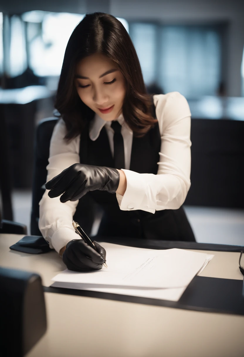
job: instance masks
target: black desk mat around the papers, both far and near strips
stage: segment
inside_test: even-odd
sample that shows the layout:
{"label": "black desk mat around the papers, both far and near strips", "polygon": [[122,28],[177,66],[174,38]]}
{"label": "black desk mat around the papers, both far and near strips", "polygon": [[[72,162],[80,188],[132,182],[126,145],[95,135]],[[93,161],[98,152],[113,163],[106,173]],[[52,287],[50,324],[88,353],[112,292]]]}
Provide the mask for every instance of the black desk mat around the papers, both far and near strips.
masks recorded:
{"label": "black desk mat around the papers, both far and near strips", "polygon": [[[150,249],[195,249],[208,251],[240,252],[244,246],[197,243],[185,241],[147,240],[121,237],[92,237],[96,242],[110,242]],[[238,259],[237,259],[238,267]],[[187,310],[244,315],[243,280],[195,276],[179,301],[158,300],[146,297],[112,294],[89,290],[44,287],[45,292],[126,301],[145,305],[165,306]],[[243,292],[244,294],[244,292]]]}

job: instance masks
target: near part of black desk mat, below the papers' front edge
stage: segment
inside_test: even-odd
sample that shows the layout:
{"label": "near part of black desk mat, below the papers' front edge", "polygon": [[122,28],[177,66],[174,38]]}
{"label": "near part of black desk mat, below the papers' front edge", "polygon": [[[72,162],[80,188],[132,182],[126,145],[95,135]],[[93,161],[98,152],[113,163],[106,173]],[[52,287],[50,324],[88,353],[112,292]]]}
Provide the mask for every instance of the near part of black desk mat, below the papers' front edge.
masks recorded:
{"label": "near part of black desk mat, below the papers' front edge", "polygon": [[244,315],[243,281],[195,276],[179,301],[111,294],[98,291],[44,287],[45,292],[165,306],[203,312]]}

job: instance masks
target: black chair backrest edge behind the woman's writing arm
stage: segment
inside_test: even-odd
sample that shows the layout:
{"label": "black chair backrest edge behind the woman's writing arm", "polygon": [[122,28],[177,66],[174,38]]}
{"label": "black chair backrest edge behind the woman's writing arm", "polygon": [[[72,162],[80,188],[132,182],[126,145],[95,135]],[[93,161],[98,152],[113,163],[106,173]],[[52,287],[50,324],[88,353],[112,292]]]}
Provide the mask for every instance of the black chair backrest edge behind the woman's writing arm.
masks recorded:
{"label": "black chair backrest edge behind the woman's writing arm", "polygon": [[44,194],[52,132],[57,123],[56,117],[43,119],[36,127],[34,143],[34,168],[32,181],[31,235],[41,236],[38,228],[39,202]]}

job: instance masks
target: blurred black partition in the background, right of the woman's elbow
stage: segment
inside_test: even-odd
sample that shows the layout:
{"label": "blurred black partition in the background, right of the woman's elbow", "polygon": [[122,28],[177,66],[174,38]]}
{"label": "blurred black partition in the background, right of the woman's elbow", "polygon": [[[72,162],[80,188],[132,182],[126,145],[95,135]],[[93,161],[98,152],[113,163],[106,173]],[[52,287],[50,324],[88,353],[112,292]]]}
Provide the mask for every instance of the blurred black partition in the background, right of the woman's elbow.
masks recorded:
{"label": "blurred black partition in the background, right of the woman's elbow", "polygon": [[192,119],[185,205],[244,208],[244,121]]}

